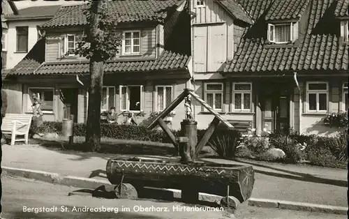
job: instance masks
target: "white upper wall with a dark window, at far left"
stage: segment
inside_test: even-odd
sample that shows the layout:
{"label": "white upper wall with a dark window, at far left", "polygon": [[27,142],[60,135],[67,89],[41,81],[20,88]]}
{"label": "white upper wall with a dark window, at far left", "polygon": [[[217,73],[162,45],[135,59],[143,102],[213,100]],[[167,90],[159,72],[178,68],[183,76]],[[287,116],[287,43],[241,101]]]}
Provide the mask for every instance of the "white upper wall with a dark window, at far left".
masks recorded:
{"label": "white upper wall with a dark window, at far left", "polygon": [[28,52],[38,41],[38,31],[36,26],[47,22],[47,20],[36,21],[8,21],[8,36],[7,36],[7,63],[6,69],[15,67],[27,53],[16,53],[17,33],[16,27],[29,27],[28,31]]}

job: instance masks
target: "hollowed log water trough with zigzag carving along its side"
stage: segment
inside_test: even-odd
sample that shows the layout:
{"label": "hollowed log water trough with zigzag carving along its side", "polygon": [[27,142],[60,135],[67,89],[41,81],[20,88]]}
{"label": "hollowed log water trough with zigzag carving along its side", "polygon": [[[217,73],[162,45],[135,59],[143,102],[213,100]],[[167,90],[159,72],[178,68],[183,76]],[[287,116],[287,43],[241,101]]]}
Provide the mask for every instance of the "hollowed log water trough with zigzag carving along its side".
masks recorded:
{"label": "hollowed log water trough with zigzag carving along its side", "polygon": [[170,158],[130,156],[108,160],[107,179],[114,185],[130,183],[137,190],[144,186],[179,189],[181,198],[188,202],[198,200],[198,192],[233,196],[239,202],[245,202],[251,197],[255,181],[252,166],[203,162],[181,164]]}

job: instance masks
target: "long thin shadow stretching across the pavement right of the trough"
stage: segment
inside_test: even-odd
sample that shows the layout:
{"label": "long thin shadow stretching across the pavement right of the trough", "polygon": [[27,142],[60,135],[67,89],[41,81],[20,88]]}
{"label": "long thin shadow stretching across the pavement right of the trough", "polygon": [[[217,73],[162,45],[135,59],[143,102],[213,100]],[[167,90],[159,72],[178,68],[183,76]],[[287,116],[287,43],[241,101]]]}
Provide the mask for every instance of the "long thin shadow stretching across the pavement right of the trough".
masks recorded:
{"label": "long thin shadow stretching across the pavement right of the trough", "polygon": [[[325,179],[325,178],[321,178],[318,176],[313,176],[312,174],[304,174],[304,173],[300,173],[300,172],[293,172],[290,170],[286,170],[286,169],[280,169],[280,168],[276,168],[276,167],[270,167],[267,165],[262,165],[262,164],[258,164],[258,163],[252,163],[252,162],[248,162],[248,161],[242,161],[242,160],[237,160],[240,163],[246,163],[248,165],[253,165],[253,166],[257,166],[257,167],[264,167],[267,169],[273,169],[279,172],[285,172],[286,174],[281,174],[281,173],[276,173],[276,172],[267,172],[267,171],[262,171],[262,170],[258,170],[255,169],[256,173],[259,174],[265,174],[265,175],[269,175],[269,176],[276,176],[276,177],[282,177],[282,178],[287,178],[287,179],[295,179],[295,180],[299,180],[299,181],[306,181],[306,182],[311,182],[311,183],[321,183],[321,184],[327,184],[327,185],[332,185],[332,186],[341,186],[341,187],[347,187],[348,186],[348,182],[347,181],[343,181],[343,180],[336,180],[336,179]],[[292,176],[290,174],[293,175],[297,175],[297,176]]]}

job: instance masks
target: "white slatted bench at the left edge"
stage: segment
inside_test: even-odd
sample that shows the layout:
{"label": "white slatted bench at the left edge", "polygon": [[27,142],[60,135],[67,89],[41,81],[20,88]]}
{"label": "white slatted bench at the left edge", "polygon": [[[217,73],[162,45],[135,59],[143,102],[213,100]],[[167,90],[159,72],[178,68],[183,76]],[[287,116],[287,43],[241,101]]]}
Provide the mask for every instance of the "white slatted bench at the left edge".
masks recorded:
{"label": "white slatted bench at the left edge", "polygon": [[[5,135],[11,135],[11,145],[24,141],[28,144],[31,114],[6,114],[2,119],[1,131]],[[24,135],[24,139],[16,139],[16,135]]]}

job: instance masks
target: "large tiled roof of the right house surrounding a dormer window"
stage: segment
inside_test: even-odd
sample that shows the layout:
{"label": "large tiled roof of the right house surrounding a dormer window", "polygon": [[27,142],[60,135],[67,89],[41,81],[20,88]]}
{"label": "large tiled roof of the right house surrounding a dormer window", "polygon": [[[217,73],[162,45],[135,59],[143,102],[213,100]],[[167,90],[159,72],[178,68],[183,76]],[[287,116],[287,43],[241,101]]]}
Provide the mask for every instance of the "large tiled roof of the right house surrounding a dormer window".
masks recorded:
{"label": "large tiled roof of the right house surrounding a dormer window", "polygon": [[334,19],[337,1],[310,0],[306,33],[299,37],[298,45],[284,47],[271,47],[267,43],[267,22],[263,20],[263,15],[269,14],[269,8],[274,8],[276,1],[237,1],[246,6],[246,10],[252,13],[251,17],[262,25],[246,29],[234,59],[222,66],[223,73],[348,70],[349,46],[339,43],[339,22]]}

